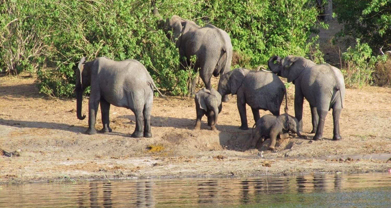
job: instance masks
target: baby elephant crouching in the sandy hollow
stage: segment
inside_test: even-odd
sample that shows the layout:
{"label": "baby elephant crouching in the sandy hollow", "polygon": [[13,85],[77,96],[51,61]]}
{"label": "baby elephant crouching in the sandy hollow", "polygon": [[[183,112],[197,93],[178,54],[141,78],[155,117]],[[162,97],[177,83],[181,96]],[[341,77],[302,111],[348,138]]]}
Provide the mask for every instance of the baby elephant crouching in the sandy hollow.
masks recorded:
{"label": "baby elephant crouching in the sandy hollow", "polygon": [[[288,138],[289,137],[289,131],[293,133],[297,133],[299,137],[303,137],[307,139],[307,136],[301,135],[299,131],[299,125],[298,120],[289,115],[289,114],[282,114],[280,116],[273,116],[273,115],[265,115],[262,116],[256,123],[255,126],[255,138],[253,139],[258,140],[261,139],[263,142],[264,139],[270,138],[271,144],[269,146],[269,149],[275,149],[276,147],[276,139],[277,136],[280,135],[280,138]],[[253,131],[254,131],[253,126]]]}

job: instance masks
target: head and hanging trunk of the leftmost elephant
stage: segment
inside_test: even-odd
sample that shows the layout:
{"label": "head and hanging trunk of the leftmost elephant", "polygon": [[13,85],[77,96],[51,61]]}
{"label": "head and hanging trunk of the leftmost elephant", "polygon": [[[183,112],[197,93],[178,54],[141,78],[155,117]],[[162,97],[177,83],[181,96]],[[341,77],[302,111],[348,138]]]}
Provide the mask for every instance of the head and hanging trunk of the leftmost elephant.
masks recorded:
{"label": "head and hanging trunk of the leftmost elephant", "polygon": [[76,113],[77,118],[83,120],[86,118],[86,115],[81,116],[81,107],[83,103],[83,92],[84,90],[90,86],[90,63],[86,63],[86,58],[82,57],[79,61],[79,65],[76,70]]}

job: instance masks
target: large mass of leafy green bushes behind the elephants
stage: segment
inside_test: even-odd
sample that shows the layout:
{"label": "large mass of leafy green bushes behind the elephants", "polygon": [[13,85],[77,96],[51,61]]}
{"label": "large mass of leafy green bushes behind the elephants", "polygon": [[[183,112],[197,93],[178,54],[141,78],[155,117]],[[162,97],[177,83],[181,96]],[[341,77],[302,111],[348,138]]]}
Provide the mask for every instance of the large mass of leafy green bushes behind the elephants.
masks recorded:
{"label": "large mass of leafy green bushes behind the elephants", "polygon": [[[240,66],[254,68],[271,55],[308,55],[316,38],[317,11],[312,0],[171,0],[156,1],[163,18],[173,14],[203,26],[211,23],[230,34]],[[14,8],[9,11],[9,5]],[[21,56],[19,70],[38,67],[41,92],[56,97],[73,96],[77,62],[106,56],[114,60],[137,59],[148,69],[156,85],[173,95],[187,94],[191,73],[179,70],[179,53],[162,30],[158,17],[145,0],[11,0],[0,6],[0,27],[14,18],[23,21],[22,36],[36,34],[41,50]],[[4,18],[2,20],[1,18]],[[15,55],[15,30],[1,30],[4,50]],[[22,27],[23,26],[23,27]],[[15,28],[16,27],[16,28]],[[7,31],[10,31],[7,34]],[[23,46],[26,51],[34,44]],[[319,53],[313,54],[318,57]],[[5,71],[6,61],[0,60]],[[43,67],[47,64],[47,68]]]}

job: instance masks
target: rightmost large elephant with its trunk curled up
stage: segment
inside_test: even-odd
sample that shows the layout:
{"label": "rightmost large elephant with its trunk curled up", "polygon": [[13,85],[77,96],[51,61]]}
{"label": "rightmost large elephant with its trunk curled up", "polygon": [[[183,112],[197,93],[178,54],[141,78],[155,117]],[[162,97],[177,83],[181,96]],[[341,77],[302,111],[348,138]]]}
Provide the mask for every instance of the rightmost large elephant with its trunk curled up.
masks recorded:
{"label": "rightmost large elephant with its trunk curled up", "polygon": [[339,69],[330,64],[315,64],[298,56],[287,56],[284,59],[273,56],[269,59],[268,66],[278,76],[287,78],[288,82],[295,85],[294,110],[301,132],[305,98],[311,107],[311,133],[315,133],[313,139],[322,139],[326,115],[331,108],[334,120],[333,140],[342,139],[339,133],[339,116],[343,108],[345,83]]}

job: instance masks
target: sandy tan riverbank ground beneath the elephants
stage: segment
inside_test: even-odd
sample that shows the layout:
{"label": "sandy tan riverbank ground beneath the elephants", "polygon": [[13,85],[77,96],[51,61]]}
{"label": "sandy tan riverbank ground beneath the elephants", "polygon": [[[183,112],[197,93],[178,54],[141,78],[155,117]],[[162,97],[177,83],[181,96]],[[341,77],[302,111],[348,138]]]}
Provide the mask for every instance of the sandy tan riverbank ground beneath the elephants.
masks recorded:
{"label": "sandy tan riverbank ground beneath the elephants", "polygon": [[[213,79],[215,87],[217,79]],[[294,114],[294,86],[288,88]],[[88,99],[83,114],[88,115]],[[239,130],[236,96],[223,103],[217,131],[193,130],[193,99],[154,98],[152,138],[131,138],[131,110],[112,106],[112,133],[85,135],[88,119],[76,117],[75,100],[38,93],[34,78],[0,77],[0,149],[21,149],[20,156],[0,156],[0,183],[105,178],[228,177],[312,172],[385,172],[391,168],[391,89],[347,89],[341,115],[343,140],[332,140],[332,114],[324,139],[310,140],[310,108],[304,103],[304,132],[309,139],[278,141],[278,151],[251,145],[251,130]],[[283,108],[281,108],[281,112]],[[270,114],[260,111],[261,116]],[[247,107],[249,126],[254,124]],[[102,128],[100,112],[97,130]],[[153,147],[154,149],[150,149]],[[159,149],[160,148],[160,149]],[[159,151],[160,150],[160,151]],[[264,150],[264,158],[260,151]]]}

